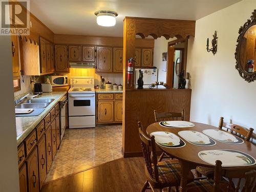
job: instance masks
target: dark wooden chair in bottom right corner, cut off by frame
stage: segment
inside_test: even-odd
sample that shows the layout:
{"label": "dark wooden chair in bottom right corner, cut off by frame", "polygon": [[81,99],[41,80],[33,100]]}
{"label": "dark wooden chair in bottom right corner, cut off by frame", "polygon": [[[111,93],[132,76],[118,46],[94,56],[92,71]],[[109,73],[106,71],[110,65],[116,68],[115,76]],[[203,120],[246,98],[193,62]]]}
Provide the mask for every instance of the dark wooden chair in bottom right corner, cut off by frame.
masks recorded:
{"label": "dark wooden chair in bottom right corner, cut off by frame", "polygon": [[[200,180],[188,183],[187,192],[231,192],[256,191],[256,165],[240,167],[222,167],[220,160],[216,161],[214,180]],[[228,178],[228,180],[223,179]],[[234,185],[233,179],[238,179]]]}

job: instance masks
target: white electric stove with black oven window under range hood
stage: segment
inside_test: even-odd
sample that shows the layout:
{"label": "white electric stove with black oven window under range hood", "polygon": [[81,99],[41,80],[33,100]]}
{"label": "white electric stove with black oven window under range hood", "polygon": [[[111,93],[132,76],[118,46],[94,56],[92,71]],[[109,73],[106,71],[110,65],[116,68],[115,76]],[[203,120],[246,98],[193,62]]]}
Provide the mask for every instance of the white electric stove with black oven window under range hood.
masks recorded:
{"label": "white electric stove with black oven window under range hood", "polygon": [[69,128],[95,127],[94,77],[71,77]]}

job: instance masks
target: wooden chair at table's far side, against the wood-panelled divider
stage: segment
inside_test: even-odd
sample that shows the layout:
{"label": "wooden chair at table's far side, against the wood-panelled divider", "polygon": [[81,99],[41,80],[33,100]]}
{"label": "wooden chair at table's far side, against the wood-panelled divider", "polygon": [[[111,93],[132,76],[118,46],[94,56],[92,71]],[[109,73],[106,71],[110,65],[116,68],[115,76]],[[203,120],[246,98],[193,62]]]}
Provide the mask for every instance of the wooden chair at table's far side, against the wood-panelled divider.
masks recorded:
{"label": "wooden chair at table's far side, against the wood-panelled divider", "polygon": [[[157,113],[156,110],[154,110],[154,115],[155,115],[155,121],[160,122],[160,121],[184,121],[184,110],[181,111],[181,113],[176,113],[176,112],[162,112],[162,113]],[[162,161],[164,157],[167,158],[173,158],[170,157],[169,155],[165,154],[164,152],[159,156],[158,161]]]}

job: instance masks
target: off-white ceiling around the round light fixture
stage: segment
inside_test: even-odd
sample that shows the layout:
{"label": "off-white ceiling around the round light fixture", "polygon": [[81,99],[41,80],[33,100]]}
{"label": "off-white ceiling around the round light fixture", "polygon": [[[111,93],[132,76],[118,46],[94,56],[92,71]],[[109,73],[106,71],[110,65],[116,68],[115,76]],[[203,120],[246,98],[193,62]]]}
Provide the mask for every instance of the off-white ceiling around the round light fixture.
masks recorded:
{"label": "off-white ceiling around the round light fixture", "polygon": [[[30,10],[54,33],[123,36],[125,16],[197,20],[239,1],[241,0],[30,0]],[[116,26],[98,26],[94,15],[98,10],[118,12]]]}

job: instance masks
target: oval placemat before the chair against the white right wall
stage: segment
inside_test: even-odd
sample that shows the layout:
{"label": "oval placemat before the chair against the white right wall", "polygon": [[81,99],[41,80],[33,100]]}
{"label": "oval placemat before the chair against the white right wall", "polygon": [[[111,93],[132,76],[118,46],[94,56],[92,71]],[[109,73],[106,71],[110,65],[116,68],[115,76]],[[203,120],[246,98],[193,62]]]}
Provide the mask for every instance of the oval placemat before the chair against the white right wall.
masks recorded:
{"label": "oval placemat before the chair against the white right wall", "polygon": [[226,131],[208,129],[208,130],[203,130],[203,133],[205,135],[208,135],[212,139],[216,139],[222,143],[241,144],[244,142],[243,139],[241,139],[237,136],[234,136],[233,134],[230,134]]}

